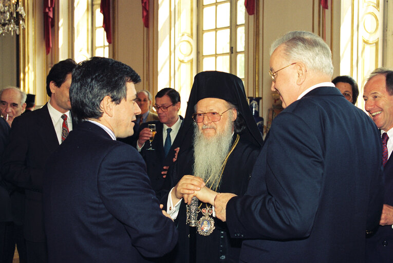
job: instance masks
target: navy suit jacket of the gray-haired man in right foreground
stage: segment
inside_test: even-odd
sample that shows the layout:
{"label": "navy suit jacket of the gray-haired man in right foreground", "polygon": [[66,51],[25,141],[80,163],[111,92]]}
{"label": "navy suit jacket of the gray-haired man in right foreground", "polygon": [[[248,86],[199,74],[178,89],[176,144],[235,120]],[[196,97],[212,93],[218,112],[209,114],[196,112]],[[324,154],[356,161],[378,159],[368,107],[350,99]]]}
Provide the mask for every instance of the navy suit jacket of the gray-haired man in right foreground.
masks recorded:
{"label": "navy suit jacket of the gray-haired man in right foreground", "polygon": [[383,202],[376,125],[333,87],[274,120],[245,196],[227,205],[244,262],[364,262]]}

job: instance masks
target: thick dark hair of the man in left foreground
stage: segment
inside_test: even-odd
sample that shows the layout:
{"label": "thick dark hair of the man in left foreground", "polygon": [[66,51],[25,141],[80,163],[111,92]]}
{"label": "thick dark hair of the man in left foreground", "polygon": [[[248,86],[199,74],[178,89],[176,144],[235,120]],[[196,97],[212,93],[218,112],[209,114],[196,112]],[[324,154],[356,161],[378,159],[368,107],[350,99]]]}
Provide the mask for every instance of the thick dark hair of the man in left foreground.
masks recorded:
{"label": "thick dark hair of the man in left foreground", "polygon": [[77,120],[99,119],[105,96],[119,104],[127,97],[127,82],[139,83],[138,73],[128,65],[107,58],[93,57],[77,65],[72,71],[69,90],[71,110]]}

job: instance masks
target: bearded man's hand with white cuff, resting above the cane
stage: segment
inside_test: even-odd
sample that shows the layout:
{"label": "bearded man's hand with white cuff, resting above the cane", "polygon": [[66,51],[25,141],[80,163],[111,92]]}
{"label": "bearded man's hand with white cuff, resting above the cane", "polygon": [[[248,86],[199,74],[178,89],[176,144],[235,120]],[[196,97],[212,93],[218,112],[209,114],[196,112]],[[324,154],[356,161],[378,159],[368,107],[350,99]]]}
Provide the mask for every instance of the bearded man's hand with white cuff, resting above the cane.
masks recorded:
{"label": "bearded man's hand with white cuff, resting above the cane", "polygon": [[204,186],[202,178],[193,175],[184,175],[180,181],[173,187],[171,196],[173,203],[177,203],[181,198],[184,202],[191,202],[191,198],[196,195],[195,191],[199,191]]}

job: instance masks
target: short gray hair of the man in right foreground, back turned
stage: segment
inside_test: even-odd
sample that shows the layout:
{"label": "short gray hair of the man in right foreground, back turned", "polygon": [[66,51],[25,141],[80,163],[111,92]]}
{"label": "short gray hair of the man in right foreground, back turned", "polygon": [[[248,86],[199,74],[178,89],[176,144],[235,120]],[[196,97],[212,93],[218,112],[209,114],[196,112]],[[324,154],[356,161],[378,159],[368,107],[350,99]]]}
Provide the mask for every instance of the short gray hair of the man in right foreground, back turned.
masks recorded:
{"label": "short gray hair of the man in right foreground, back turned", "polygon": [[331,51],[320,36],[307,31],[288,32],[273,42],[270,55],[282,44],[288,61],[303,62],[310,70],[333,76]]}

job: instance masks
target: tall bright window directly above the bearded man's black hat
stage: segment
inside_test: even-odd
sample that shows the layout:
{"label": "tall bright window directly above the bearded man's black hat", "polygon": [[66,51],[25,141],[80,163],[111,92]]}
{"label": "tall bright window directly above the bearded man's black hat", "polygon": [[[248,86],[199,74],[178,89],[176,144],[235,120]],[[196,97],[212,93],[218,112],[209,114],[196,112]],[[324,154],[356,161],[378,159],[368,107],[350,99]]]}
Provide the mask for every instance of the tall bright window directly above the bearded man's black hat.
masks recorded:
{"label": "tall bright window directly above the bearded man's black hat", "polygon": [[198,1],[198,71],[218,70],[245,76],[244,0]]}

